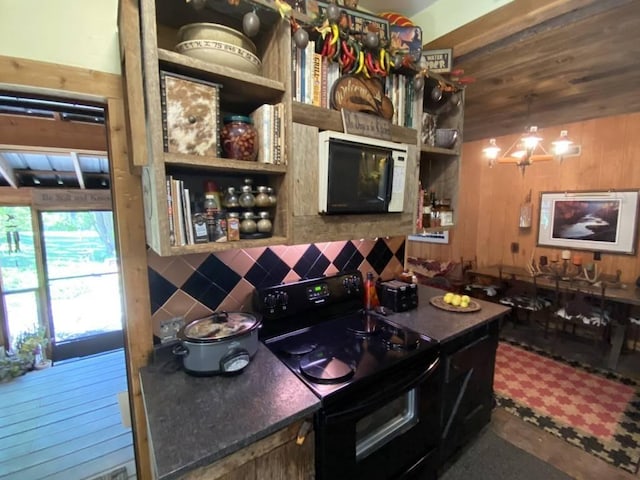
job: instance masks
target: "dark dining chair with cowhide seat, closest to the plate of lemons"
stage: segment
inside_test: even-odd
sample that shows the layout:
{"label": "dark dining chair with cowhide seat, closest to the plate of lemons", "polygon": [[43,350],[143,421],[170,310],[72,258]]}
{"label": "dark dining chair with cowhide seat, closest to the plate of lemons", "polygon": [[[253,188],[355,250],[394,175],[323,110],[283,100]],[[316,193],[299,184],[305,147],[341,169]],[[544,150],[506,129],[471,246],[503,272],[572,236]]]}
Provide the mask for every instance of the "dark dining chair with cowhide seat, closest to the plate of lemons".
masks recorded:
{"label": "dark dining chair with cowhide seat, closest to the plate of lemons", "polygon": [[553,299],[545,294],[545,291],[538,286],[538,275],[531,275],[526,278],[512,276],[510,279],[503,279],[500,273],[500,281],[506,285],[504,293],[500,296],[499,302],[511,307],[511,317],[514,326],[519,322],[518,312],[524,312],[525,322],[531,323],[531,316],[543,316],[544,336],[547,337],[549,331],[550,307],[554,304]]}

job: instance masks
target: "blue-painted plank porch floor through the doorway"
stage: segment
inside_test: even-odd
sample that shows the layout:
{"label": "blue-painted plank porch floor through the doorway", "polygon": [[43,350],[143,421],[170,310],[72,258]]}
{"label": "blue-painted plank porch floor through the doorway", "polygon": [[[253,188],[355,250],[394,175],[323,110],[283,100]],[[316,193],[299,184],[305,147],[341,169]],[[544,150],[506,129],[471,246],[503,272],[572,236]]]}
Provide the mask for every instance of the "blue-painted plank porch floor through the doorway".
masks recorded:
{"label": "blue-painted plank porch floor through the doorway", "polygon": [[0,384],[0,479],[83,480],[119,466],[135,478],[126,389],[122,349]]}

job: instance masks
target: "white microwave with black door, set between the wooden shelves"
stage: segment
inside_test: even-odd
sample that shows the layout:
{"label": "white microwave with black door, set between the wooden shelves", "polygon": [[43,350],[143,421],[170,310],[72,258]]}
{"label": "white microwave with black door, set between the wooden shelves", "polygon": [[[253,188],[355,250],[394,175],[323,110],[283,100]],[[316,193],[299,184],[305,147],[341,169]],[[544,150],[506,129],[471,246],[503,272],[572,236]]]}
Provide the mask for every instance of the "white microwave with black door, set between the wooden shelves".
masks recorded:
{"label": "white microwave with black door, set between the wooden shelves", "polygon": [[404,143],[320,132],[318,211],[328,215],[402,212],[408,151]]}

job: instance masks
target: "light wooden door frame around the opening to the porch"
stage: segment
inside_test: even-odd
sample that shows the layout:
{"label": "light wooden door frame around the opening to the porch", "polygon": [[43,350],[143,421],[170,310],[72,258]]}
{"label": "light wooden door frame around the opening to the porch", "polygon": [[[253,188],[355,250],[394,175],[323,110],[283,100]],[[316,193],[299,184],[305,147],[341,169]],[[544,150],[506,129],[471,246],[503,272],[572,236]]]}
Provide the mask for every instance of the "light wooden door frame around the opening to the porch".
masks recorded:
{"label": "light wooden door frame around the opening to the porch", "polygon": [[124,292],[127,380],[137,476],[151,478],[138,371],[153,349],[140,179],[129,171],[122,79],[94,70],[0,56],[0,88],[106,103],[115,226]]}

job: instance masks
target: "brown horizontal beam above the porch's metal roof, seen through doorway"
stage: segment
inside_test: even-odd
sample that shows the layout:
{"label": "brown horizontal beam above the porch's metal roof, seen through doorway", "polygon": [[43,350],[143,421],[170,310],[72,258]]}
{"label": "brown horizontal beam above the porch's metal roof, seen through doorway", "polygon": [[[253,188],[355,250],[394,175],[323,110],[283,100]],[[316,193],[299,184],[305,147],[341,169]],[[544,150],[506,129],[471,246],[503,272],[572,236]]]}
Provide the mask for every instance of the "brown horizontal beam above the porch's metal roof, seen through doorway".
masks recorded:
{"label": "brown horizontal beam above the porch's metal roof, seen through doorway", "polygon": [[0,144],[106,152],[107,135],[100,124],[0,114]]}

